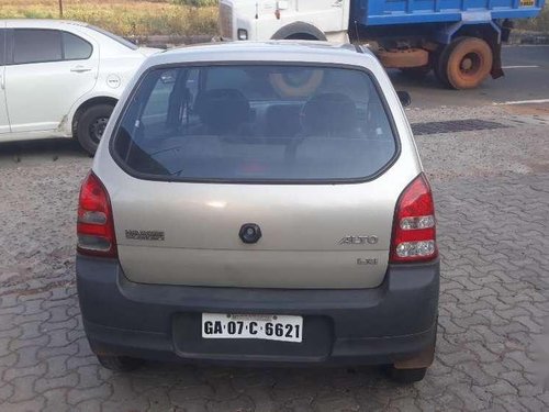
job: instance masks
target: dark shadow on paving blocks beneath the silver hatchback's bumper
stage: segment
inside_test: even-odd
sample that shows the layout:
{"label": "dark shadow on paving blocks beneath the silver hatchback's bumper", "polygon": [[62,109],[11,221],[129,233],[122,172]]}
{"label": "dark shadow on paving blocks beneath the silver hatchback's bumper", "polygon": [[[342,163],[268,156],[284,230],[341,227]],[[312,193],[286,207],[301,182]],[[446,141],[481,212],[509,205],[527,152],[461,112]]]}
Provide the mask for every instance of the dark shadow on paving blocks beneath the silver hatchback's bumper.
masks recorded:
{"label": "dark shadow on paving blocks beneath the silver hatchback's bumper", "polygon": [[[172,388],[173,394],[193,387],[202,387],[201,394],[211,398],[225,391],[227,397],[249,397],[257,392],[269,393],[273,407],[282,410],[292,400],[306,398],[344,401],[354,397],[368,399],[365,404],[373,407],[371,396],[391,397],[394,392],[410,390],[408,386],[389,380],[380,367],[223,367],[206,364],[161,364],[147,361],[145,367],[123,376],[114,375],[111,383],[123,378],[132,387],[143,382],[156,382]],[[187,389],[189,390],[189,389]],[[221,400],[221,399],[220,399]]]}

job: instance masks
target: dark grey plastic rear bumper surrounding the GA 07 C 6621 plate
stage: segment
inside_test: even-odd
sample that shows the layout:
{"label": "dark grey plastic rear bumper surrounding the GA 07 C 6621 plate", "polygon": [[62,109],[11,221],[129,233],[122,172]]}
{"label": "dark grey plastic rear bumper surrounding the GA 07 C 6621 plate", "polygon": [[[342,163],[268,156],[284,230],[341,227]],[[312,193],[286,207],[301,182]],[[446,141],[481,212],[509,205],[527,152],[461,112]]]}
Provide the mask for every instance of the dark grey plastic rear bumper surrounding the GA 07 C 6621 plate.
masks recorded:
{"label": "dark grey plastic rear bumper surrounding the GA 07 C 6621 plate", "polygon": [[[374,365],[433,347],[439,263],[395,265],[360,290],[276,290],[143,285],[116,260],[77,257],[83,324],[97,354],[158,360]],[[304,316],[302,344],[203,339],[201,313]]]}

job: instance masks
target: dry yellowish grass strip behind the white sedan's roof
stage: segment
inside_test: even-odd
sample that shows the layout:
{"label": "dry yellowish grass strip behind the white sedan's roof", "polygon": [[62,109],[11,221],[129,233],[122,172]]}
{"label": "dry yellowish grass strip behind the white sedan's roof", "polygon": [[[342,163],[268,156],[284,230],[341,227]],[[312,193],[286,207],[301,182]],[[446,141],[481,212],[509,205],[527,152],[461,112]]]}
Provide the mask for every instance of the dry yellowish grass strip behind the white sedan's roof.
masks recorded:
{"label": "dry yellowish grass strip behind the white sedan's roof", "polygon": [[[0,19],[59,18],[57,0],[0,1]],[[209,1],[64,0],[64,19],[88,22],[124,36],[214,35],[217,33],[217,8],[184,4]]]}

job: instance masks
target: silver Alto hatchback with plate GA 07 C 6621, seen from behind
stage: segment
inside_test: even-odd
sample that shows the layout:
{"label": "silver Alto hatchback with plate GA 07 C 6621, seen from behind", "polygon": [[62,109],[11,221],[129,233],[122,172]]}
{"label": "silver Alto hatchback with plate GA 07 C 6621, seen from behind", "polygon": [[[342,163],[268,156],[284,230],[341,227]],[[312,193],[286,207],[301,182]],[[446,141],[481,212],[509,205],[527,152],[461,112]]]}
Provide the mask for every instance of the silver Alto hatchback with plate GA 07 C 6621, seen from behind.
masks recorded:
{"label": "silver Alto hatchback with plate GA 07 C 6621, seen from behind", "polygon": [[434,358],[435,212],[367,49],[221,44],[149,57],[82,183],[77,280],[101,364]]}

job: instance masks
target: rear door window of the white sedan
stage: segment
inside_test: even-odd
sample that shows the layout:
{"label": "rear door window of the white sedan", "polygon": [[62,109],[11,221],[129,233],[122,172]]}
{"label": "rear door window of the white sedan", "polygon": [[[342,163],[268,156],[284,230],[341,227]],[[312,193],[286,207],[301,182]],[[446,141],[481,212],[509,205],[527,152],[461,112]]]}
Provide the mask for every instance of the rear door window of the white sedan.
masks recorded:
{"label": "rear door window of the white sedan", "polygon": [[13,46],[14,64],[63,59],[61,33],[56,30],[15,29]]}

